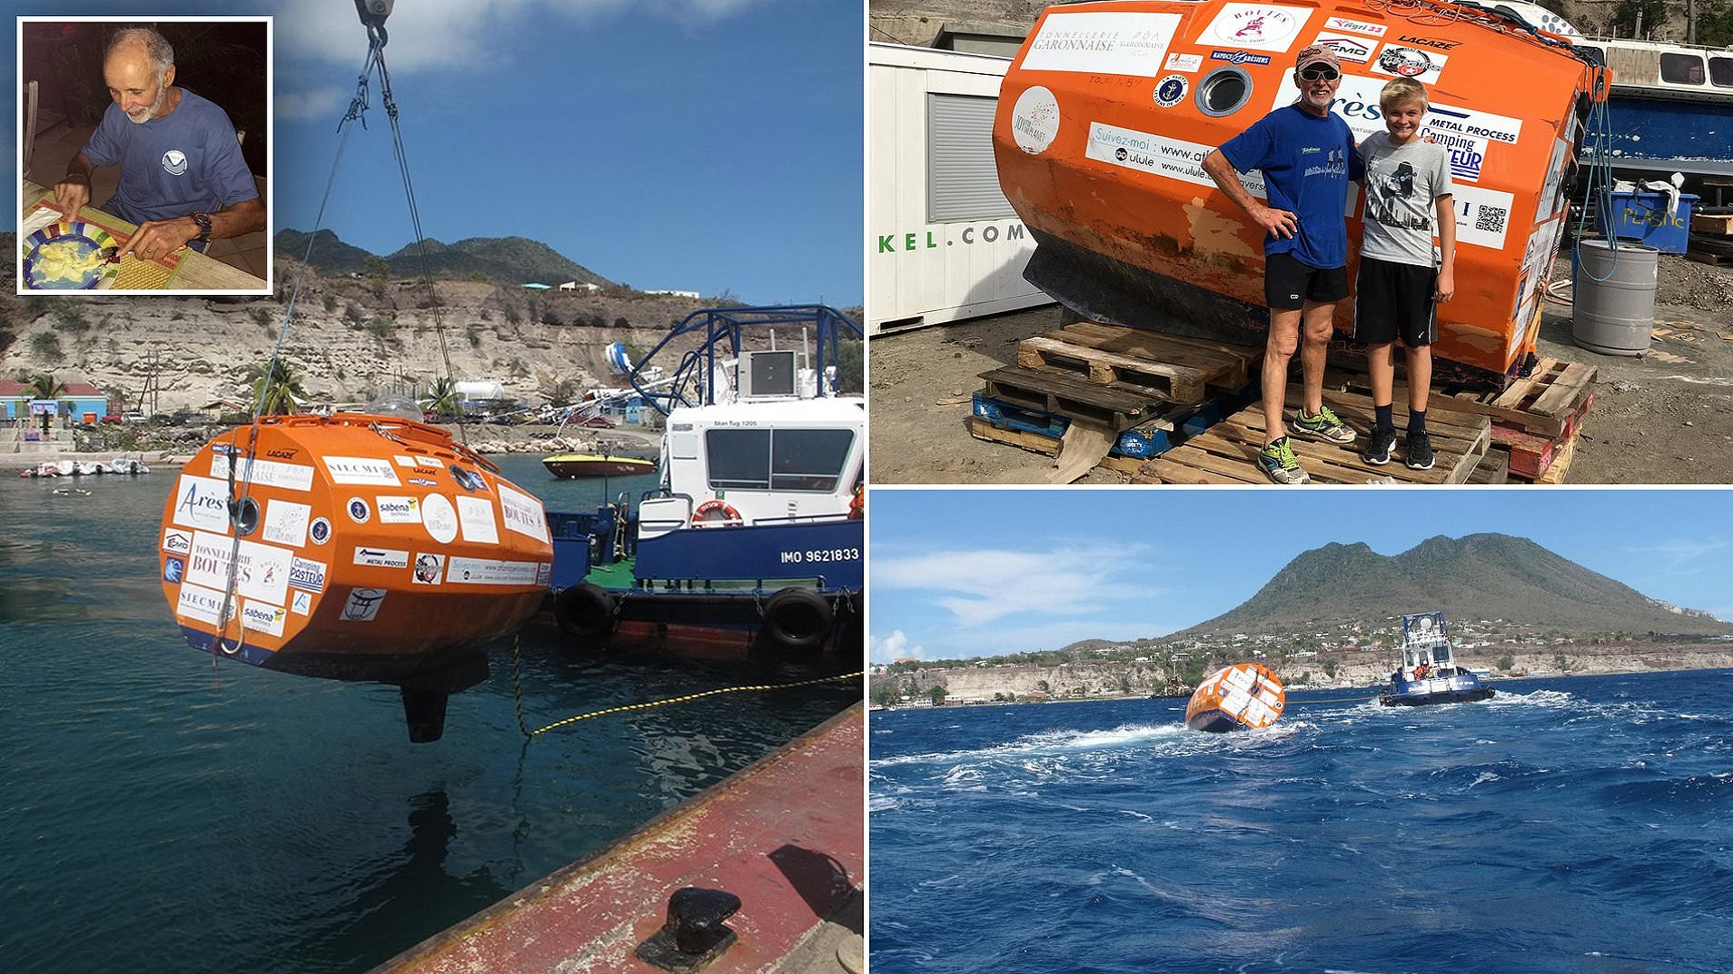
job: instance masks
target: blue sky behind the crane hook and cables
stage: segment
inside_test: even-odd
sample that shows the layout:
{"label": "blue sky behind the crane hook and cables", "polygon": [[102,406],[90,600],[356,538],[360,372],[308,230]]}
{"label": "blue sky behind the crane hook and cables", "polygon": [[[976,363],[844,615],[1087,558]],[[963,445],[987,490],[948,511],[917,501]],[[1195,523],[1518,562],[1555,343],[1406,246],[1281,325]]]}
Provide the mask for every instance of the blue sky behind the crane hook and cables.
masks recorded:
{"label": "blue sky behind the crane hook and cables", "polygon": [[[7,7],[274,16],[274,225],[312,229],[367,52],[352,0]],[[539,239],[641,289],[861,302],[858,3],[399,0],[386,29],[428,236]],[[324,225],[374,253],[412,239],[378,83]]]}

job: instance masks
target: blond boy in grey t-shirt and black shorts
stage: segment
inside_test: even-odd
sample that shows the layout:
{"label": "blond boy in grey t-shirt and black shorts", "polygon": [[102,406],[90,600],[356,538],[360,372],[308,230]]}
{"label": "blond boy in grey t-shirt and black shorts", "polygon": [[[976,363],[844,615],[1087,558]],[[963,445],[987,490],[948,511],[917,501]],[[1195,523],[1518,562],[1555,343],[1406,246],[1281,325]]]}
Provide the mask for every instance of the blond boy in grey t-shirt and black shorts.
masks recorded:
{"label": "blond boy in grey t-shirt and black shorts", "polygon": [[[1353,336],[1366,341],[1376,421],[1360,459],[1390,463],[1397,442],[1393,345],[1407,360],[1409,421],[1402,459],[1412,470],[1433,464],[1426,433],[1431,343],[1438,338],[1437,305],[1456,293],[1456,213],[1451,161],[1442,146],[1419,137],[1426,88],[1412,78],[1385,85],[1378,106],[1385,132],[1360,146],[1366,163],[1366,234],[1353,289]],[[1438,246],[1433,250],[1433,234]]]}

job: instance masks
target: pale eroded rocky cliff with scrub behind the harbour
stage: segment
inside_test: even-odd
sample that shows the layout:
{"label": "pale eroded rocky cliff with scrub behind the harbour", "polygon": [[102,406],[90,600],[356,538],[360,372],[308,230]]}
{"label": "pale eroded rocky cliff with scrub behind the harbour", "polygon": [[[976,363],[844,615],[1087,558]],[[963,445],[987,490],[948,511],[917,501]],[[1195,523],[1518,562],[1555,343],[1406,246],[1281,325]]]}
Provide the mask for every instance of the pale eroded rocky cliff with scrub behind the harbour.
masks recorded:
{"label": "pale eroded rocky cliff with scrub behind the harbour", "polygon": [[[3,237],[16,246],[10,234]],[[279,250],[277,298],[17,298],[7,279],[0,284],[0,376],[52,373],[61,381],[90,381],[146,412],[243,395],[248,369],[269,360],[277,345],[298,258]],[[5,274],[14,274],[12,265]],[[380,393],[425,388],[447,373],[447,355],[458,380],[499,381],[532,406],[568,402],[584,388],[622,385],[607,369],[608,343],[624,341],[636,357],[671,324],[709,305],[619,286],[525,291],[473,279],[438,281],[437,293],[435,308],[414,279],[308,274],[282,355],[315,402],[366,404]]]}

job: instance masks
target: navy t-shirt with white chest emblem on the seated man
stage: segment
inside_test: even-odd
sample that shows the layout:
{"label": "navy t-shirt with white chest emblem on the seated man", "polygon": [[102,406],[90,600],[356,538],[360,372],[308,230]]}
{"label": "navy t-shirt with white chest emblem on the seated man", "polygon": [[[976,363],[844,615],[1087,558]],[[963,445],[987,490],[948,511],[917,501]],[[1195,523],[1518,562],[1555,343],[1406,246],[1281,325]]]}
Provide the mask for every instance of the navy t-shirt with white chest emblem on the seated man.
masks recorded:
{"label": "navy t-shirt with white chest emblem on the seated man", "polygon": [[144,125],[109,104],[85,158],[99,166],[120,163],[120,189],[104,208],[133,224],[210,213],[258,196],[229,113],[185,88],[175,111]]}

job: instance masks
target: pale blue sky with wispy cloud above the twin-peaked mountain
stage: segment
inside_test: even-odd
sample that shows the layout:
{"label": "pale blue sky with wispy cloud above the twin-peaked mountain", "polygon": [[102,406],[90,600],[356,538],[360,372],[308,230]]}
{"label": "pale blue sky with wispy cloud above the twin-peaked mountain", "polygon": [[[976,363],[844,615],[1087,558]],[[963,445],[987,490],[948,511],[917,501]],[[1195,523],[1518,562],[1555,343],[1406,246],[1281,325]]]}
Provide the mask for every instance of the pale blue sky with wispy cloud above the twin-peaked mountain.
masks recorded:
{"label": "pale blue sky with wispy cloud above the twin-peaked mountain", "polygon": [[1165,636],[1301,551],[1529,537],[1636,591],[1733,619],[1726,490],[905,490],[868,501],[872,660]]}

